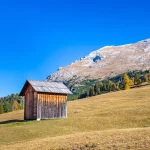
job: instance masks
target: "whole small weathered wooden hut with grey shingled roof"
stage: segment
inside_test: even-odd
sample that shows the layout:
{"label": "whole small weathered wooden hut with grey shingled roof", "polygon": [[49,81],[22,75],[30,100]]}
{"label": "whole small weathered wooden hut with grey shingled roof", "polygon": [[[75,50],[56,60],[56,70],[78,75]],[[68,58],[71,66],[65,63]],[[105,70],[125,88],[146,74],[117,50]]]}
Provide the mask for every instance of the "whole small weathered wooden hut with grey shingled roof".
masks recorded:
{"label": "whole small weathered wooden hut with grey shingled roof", "polygon": [[61,82],[27,80],[20,92],[24,119],[67,118],[67,94],[72,92]]}

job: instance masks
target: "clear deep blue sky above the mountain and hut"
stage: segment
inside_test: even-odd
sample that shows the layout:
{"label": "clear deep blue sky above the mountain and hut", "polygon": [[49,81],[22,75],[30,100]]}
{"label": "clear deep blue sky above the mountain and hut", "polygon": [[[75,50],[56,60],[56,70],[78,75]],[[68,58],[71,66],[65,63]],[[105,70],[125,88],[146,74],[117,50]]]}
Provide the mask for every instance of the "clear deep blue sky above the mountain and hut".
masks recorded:
{"label": "clear deep blue sky above the mountain and hut", "polygon": [[106,45],[150,37],[149,0],[0,1],[0,97]]}

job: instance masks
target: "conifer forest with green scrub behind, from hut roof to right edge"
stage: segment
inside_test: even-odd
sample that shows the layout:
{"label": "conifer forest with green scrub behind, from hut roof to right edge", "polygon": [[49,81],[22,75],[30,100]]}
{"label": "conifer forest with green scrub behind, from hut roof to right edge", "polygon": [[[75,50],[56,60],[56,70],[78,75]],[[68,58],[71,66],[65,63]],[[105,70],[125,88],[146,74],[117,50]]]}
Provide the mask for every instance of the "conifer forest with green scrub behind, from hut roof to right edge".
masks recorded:
{"label": "conifer forest with green scrub behind, from hut roof to right edge", "polygon": [[73,95],[68,100],[82,99],[108,92],[129,90],[150,83],[150,71],[130,71],[107,80],[86,80],[76,86],[74,81],[69,81],[67,86],[72,90]]}

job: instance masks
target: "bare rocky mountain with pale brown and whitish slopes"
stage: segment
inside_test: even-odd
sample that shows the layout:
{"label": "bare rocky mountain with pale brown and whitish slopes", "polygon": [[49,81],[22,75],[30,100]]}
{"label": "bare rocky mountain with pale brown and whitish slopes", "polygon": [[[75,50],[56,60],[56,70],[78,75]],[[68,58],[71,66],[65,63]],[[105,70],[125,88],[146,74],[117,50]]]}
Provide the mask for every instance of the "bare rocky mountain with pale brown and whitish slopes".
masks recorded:
{"label": "bare rocky mountain with pale brown and whitish slopes", "polygon": [[60,67],[48,80],[106,79],[133,70],[150,68],[150,39],[134,44],[105,46],[69,66]]}

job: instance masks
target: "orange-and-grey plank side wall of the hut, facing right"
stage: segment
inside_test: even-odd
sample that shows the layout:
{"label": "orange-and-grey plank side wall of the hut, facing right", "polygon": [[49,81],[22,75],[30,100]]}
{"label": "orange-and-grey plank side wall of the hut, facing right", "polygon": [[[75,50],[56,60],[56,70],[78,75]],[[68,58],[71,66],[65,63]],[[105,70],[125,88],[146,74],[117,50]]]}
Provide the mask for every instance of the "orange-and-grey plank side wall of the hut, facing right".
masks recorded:
{"label": "orange-and-grey plank side wall of the hut, facing right", "polygon": [[66,118],[67,95],[38,93],[37,119]]}

